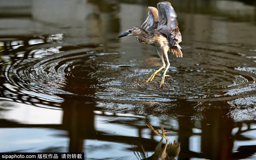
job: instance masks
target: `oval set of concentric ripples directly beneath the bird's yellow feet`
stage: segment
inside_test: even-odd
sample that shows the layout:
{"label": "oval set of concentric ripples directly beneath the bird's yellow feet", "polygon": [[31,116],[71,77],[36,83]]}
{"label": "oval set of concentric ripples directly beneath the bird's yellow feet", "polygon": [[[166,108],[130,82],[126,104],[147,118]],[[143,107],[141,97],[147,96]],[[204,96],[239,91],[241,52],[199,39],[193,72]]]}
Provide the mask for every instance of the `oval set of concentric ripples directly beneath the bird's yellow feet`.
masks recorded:
{"label": "oval set of concentric ripples directly beneath the bird's yellow feet", "polygon": [[207,68],[181,68],[170,72],[173,75],[165,79],[163,88],[159,88],[162,76],[155,77],[148,83],[145,83],[146,75],[138,75],[126,80],[131,81],[138,91],[157,93],[170,99],[220,98],[240,94],[248,87],[251,88],[250,91],[255,90],[253,73]]}

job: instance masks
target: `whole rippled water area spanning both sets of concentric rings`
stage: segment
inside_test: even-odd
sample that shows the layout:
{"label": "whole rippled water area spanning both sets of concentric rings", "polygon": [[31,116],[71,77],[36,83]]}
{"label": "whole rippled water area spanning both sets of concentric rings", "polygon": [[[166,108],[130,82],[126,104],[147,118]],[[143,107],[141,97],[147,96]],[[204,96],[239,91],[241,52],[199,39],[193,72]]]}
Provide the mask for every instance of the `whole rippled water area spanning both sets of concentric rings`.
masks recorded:
{"label": "whole rippled water area spanning both sets of concentric rings", "polygon": [[23,92],[92,96],[111,103],[229,101],[256,93],[254,57],[246,49],[238,52],[229,46],[229,51],[223,51],[216,49],[218,44],[211,44],[184,50],[183,59],[170,58],[167,73],[171,77],[166,77],[160,88],[164,70],[146,83],[161,66],[154,52],[146,59],[124,60],[120,52],[54,45],[31,51],[29,58],[8,66],[8,83]]}

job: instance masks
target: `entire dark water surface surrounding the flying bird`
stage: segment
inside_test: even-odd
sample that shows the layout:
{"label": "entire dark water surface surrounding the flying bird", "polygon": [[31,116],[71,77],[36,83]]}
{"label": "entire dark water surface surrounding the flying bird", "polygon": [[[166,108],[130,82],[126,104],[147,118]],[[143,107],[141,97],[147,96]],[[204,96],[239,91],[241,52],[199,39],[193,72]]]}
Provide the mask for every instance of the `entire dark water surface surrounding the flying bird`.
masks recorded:
{"label": "entire dark water surface surrounding the flying bird", "polygon": [[[161,139],[177,159],[256,159],[256,7],[171,1],[183,58],[163,88],[154,47],[133,37],[158,1],[0,0],[0,152],[137,159]],[[164,141],[165,142],[165,141]]]}

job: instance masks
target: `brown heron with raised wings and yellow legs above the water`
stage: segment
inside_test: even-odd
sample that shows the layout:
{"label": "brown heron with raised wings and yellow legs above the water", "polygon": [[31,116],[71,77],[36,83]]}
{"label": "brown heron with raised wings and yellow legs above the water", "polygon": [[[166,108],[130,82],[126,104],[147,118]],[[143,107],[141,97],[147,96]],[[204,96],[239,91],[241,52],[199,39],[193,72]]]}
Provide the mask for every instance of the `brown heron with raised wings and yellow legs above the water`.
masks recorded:
{"label": "brown heron with raised wings and yellow legs above the water", "polygon": [[160,87],[164,84],[164,78],[169,77],[166,75],[170,62],[167,52],[170,51],[176,57],[182,57],[181,47],[181,33],[179,32],[178,22],[176,20],[176,13],[170,2],[160,2],[157,8],[148,7],[148,18],[141,27],[131,27],[125,33],[119,35],[117,38],[124,36],[134,36],[138,42],[150,44],[156,47],[157,54],[159,55],[163,66],[154,72],[151,77],[146,81],[152,81],[155,75],[165,68],[164,57],[167,61],[167,67],[164,71]]}

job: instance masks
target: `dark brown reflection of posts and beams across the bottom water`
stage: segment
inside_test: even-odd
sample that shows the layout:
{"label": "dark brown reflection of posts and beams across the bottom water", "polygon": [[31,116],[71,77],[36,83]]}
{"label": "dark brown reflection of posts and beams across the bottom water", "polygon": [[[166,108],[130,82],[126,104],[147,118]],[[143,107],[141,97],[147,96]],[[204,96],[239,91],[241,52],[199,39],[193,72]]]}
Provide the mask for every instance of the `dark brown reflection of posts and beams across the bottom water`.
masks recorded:
{"label": "dark brown reflection of posts and beams across the bottom water", "polygon": [[[86,101],[88,103],[88,100]],[[146,139],[140,136],[140,132],[144,129],[147,129],[146,126],[135,125],[134,122],[130,121],[131,116],[119,116],[116,114],[108,115],[98,114],[95,111],[100,111],[100,108],[94,107],[94,103],[91,101],[89,104],[81,105],[81,100],[76,100],[75,98],[66,98],[65,102],[62,103],[63,109],[63,119],[62,124],[18,124],[10,120],[1,120],[0,127],[41,127],[41,128],[54,128],[59,130],[68,131],[69,137],[69,151],[70,152],[82,152],[86,144],[84,140],[86,139],[97,139],[108,142],[118,142],[132,145],[135,141],[140,142],[144,147],[145,151],[153,152],[155,146],[158,142],[154,139]],[[97,130],[95,126],[96,117],[112,117],[118,118],[119,121],[116,124],[116,121],[110,122],[116,127],[125,125],[127,128],[131,128],[137,131],[139,137],[129,137],[123,135],[116,135],[115,133],[104,132]],[[210,115],[208,115],[210,116]],[[133,117],[134,121],[141,122],[145,124],[147,120],[143,118]],[[177,122],[179,123],[178,129],[170,129],[173,133],[176,133],[178,136],[178,141],[181,143],[181,153],[179,154],[179,159],[190,159],[192,157],[197,158],[206,158],[206,159],[234,159],[234,157],[246,158],[251,156],[256,152],[255,146],[248,145],[238,148],[238,150],[232,153],[234,148],[234,141],[244,141],[249,140],[247,137],[243,137],[241,133],[246,133],[255,129],[245,128],[243,126],[255,124],[254,121],[245,121],[245,122],[234,122],[232,119],[224,120],[222,114],[217,117],[214,117],[217,120],[214,120],[213,117],[209,117],[210,120],[202,120],[201,127],[199,127],[200,121],[191,122],[187,118],[179,118]],[[111,119],[111,118],[110,118]],[[191,125],[188,125],[191,124]],[[223,124],[226,124],[223,126]],[[172,125],[172,124],[170,124]],[[166,124],[168,126],[168,124]],[[224,129],[225,127],[225,129]],[[155,127],[160,129],[159,127]],[[166,127],[168,128],[168,127]],[[194,130],[200,130],[201,132],[194,132]],[[169,130],[169,129],[168,129]],[[238,130],[234,134],[232,131]],[[201,140],[195,141],[193,137],[200,137]],[[193,151],[194,147],[192,146],[201,146],[201,150]],[[197,147],[195,147],[197,148]],[[86,154],[85,154],[86,155]]]}

